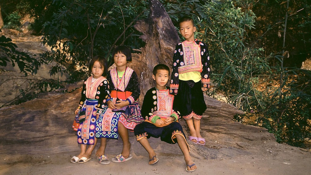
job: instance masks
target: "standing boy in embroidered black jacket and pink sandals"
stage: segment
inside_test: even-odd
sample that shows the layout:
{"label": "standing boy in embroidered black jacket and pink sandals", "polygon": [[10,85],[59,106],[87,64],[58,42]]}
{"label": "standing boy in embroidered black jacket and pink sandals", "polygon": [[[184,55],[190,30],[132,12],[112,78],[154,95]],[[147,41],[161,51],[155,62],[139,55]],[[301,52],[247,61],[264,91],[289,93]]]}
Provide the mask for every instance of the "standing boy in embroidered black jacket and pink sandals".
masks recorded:
{"label": "standing boy in embroidered black jacket and pink sandals", "polygon": [[210,57],[207,45],[194,38],[195,31],[191,17],[179,20],[179,32],[185,41],[178,43],[174,51],[170,93],[176,95],[174,110],[180,112],[189,127],[189,140],[204,145],[200,123],[207,109],[203,92],[210,85]]}

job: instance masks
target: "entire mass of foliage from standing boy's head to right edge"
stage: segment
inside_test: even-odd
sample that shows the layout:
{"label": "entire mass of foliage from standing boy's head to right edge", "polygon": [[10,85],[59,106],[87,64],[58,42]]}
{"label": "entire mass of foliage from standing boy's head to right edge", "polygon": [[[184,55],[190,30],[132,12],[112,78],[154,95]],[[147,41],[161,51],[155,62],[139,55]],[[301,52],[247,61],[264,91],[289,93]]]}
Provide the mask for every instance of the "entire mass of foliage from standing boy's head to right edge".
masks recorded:
{"label": "entire mass of foliage from standing boy's head to right edge", "polygon": [[[211,1],[201,4],[206,10],[193,5],[196,12],[188,9],[182,13],[194,16],[196,37],[209,44],[215,85],[210,95],[221,94],[247,114],[254,112],[258,119],[253,124],[268,128],[278,142],[302,146],[310,138],[310,77],[305,72],[296,70],[292,76],[287,69],[271,67],[272,56],[264,55],[265,50],[249,40],[256,21],[249,4]],[[274,58],[282,61],[278,55]],[[284,73],[289,75],[278,82],[277,76]],[[275,87],[280,83],[285,88],[281,95],[280,88]],[[234,120],[243,121],[245,117],[235,116]]]}

